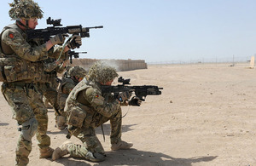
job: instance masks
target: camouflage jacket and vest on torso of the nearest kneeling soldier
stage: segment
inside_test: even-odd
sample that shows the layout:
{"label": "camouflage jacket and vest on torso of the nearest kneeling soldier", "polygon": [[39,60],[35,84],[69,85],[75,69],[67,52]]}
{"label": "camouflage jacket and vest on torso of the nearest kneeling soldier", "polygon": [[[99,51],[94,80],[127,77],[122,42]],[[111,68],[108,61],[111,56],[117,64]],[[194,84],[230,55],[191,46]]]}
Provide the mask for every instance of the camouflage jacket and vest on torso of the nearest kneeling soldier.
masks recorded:
{"label": "camouflage jacket and vest on torso of the nearest kneeling soldier", "polygon": [[[68,95],[64,112],[67,113],[67,123],[75,127],[92,125],[102,117],[110,118],[119,111],[119,102],[112,94],[104,94],[100,84],[84,79]],[[96,126],[94,126],[96,125]]]}

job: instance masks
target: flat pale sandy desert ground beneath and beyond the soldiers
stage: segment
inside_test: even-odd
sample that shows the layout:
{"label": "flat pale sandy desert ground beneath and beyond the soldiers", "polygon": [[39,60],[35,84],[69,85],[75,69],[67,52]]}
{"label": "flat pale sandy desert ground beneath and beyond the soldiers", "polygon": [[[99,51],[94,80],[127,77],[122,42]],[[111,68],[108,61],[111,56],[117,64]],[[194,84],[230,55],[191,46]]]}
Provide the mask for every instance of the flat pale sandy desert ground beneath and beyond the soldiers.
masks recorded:
{"label": "flat pale sandy desert ground beneath and beyond the soldiers", "polygon": [[[56,162],[38,159],[37,140],[32,139],[30,166],[57,165],[256,165],[256,69],[247,64],[158,65],[146,70],[119,72],[132,85],[157,85],[158,96],[148,96],[142,106],[123,107],[123,140],[131,150],[112,152],[109,123],[98,138],[108,158],[102,163],[63,157]],[[116,83],[115,83],[116,84]],[[0,95],[0,166],[14,165],[19,132],[3,95]],[[52,147],[60,146],[67,131],[55,128],[49,109]],[[75,143],[78,139],[72,137]]]}

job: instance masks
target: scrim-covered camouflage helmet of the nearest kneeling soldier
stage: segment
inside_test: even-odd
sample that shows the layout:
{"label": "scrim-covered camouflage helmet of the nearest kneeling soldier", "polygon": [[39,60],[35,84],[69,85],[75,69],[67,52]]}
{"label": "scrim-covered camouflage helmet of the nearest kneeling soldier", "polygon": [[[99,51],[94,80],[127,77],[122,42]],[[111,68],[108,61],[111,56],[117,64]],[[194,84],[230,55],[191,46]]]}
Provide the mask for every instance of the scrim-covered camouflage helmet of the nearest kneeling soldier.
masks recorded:
{"label": "scrim-covered camouflage helmet of the nearest kneeling soldier", "polygon": [[91,66],[88,75],[90,81],[98,83],[107,83],[112,81],[115,77],[119,76],[115,68],[108,66],[102,61],[98,61],[93,66]]}

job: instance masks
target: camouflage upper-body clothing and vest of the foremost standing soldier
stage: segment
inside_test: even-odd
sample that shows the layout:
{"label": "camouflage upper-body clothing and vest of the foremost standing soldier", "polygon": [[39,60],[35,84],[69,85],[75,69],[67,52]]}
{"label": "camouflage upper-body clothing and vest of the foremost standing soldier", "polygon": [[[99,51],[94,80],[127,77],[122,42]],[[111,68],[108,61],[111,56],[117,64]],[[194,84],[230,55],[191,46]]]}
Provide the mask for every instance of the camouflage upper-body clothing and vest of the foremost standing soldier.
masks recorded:
{"label": "camouflage upper-body clothing and vest of the foremost standing soldier", "polygon": [[4,83],[45,80],[42,60],[61,53],[60,47],[47,51],[44,40],[28,40],[26,31],[16,24],[3,28],[0,41],[0,82]]}

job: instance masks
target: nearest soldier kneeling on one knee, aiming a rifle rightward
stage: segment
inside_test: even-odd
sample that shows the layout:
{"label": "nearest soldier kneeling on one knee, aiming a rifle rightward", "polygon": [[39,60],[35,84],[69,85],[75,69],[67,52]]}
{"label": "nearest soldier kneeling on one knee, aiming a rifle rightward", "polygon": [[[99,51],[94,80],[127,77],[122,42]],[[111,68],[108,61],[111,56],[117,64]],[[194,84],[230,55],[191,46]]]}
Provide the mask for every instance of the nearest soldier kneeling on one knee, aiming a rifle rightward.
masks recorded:
{"label": "nearest soldier kneeling on one knee, aiming a rifle rightward", "polygon": [[[122,112],[120,101],[113,94],[102,94],[102,85],[111,85],[113,79],[118,77],[111,66],[97,62],[90,67],[84,79],[69,94],[64,112],[67,112],[69,132],[79,138],[84,146],[75,145],[70,141],[64,142],[55,149],[52,159],[56,160],[66,154],[71,157],[82,157],[92,162],[101,162],[106,155],[101,142],[96,137],[95,128],[110,120],[111,149],[130,149],[132,143],[121,140]],[[129,100],[130,93],[120,94],[119,99]],[[128,102],[140,105],[140,101]]]}

